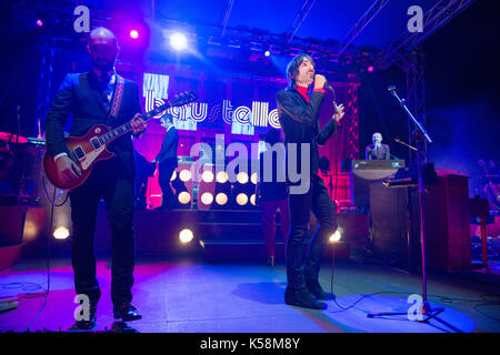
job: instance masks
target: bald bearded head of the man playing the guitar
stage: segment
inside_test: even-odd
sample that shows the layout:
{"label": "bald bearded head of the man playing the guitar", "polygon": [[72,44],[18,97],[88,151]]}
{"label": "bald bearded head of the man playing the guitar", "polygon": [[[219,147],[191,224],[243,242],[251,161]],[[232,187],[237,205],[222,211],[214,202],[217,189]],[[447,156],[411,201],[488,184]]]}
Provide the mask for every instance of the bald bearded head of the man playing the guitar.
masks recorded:
{"label": "bald bearded head of the man playing the guitar", "polygon": [[99,27],[90,32],[87,45],[92,64],[100,71],[111,71],[114,67],[120,47],[117,38],[110,30]]}

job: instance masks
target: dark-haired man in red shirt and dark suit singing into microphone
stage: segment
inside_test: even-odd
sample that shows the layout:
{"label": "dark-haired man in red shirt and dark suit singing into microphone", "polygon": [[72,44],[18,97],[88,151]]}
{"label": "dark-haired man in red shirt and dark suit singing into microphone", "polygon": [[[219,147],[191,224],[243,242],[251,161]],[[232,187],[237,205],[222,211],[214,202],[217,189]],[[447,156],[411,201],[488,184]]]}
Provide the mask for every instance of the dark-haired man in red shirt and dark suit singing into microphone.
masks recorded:
{"label": "dark-haired man in red shirt and dark suit singing into microphone", "polygon": [[[306,193],[289,195],[290,229],[287,239],[287,290],[284,302],[307,308],[326,310],[320,301],[331,300],[333,295],[322,290],[319,284],[321,257],[330,235],[337,230],[336,204],[320,176],[318,144],[324,144],[339,128],[344,115],[343,104],[334,108],[334,116],[321,129],[319,112],[327,91],[331,89],[323,75],[314,72],[314,62],[307,54],[294,57],[287,67],[289,87],[277,93],[278,114],[287,145],[287,162],[301,166],[301,159],[309,159],[310,186]],[[290,161],[290,149],[296,143],[297,152],[301,145],[310,149],[309,156],[297,154],[297,162]],[[291,144],[291,145],[290,145]],[[289,186],[292,185],[289,179]],[[308,245],[306,261],[302,261],[303,241],[308,236],[309,217],[314,213],[319,221],[311,242]]]}

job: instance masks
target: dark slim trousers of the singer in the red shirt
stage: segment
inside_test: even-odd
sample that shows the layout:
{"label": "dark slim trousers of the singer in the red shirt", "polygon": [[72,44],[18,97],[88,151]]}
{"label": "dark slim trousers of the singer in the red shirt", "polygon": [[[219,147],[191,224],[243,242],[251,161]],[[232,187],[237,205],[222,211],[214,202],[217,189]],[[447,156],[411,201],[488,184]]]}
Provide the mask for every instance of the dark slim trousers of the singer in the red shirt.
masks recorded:
{"label": "dark slim trousers of the singer in the red shirt", "polygon": [[[311,178],[304,194],[290,194],[290,232],[287,240],[287,281],[290,290],[306,287],[306,278],[318,280],[321,257],[330,236],[337,230],[336,203],[331,201],[321,178]],[[303,261],[303,242],[308,237],[309,219],[314,213],[319,226],[308,245]]]}

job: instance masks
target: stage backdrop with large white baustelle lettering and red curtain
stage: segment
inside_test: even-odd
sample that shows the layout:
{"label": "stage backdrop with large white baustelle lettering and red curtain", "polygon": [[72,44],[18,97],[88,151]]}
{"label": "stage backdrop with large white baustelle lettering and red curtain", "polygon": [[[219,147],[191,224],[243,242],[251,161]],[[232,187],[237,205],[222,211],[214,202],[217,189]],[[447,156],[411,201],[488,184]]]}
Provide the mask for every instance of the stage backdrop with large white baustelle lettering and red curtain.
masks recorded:
{"label": "stage backdrop with large white baustelle lettering and red curtain", "polygon": [[[118,65],[117,70],[124,78],[138,82],[142,109],[149,111],[173,95],[190,90],[198,100],[194,104],[169,110],[174,116],[179,132],[180,156],[189,156],[191,146],[204,142],[214,146],[216,134],[224,135],[224,144],[240,142],[247,145],[259,142],[259,134],[269,129],[280,129],[278,121],[276,93],[287,87],[284,79],[261,78],[227,73],[221,75],[199,72],[193,69],[180,69],[173,65],[148,65],[137,68]],[[323,176],[332,199],[349,202],[349,179],[340,172],[342,159],[359,159],[358,126],[358,83],[330,82],[336,90],[338,104],[346,105],[346,116],[340,130],[320,146],[320,156],[330,161],[331,176]],[[320,122],[323,126],[332,116],[330,103],[332,95],[327,94],[322,105]],[[150,120],[146,134],[134,140],[136,150],[148,161],[152,161],[160,150],[166,130],[160,120]],[[262,143],[261,143],[262,144]],[[158,173],[150,179],[148,194],[161,196]],[[148,196],[151,200],[151,196]],[[153,206],[161,199],[153,199]]]}

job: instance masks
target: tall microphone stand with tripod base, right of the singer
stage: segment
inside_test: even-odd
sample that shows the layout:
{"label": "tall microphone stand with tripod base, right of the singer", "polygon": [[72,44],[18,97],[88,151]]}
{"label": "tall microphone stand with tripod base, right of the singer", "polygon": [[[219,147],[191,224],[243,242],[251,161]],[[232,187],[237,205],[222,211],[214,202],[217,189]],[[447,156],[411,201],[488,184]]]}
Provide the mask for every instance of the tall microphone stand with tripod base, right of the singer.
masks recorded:
{"label": "tall microphone stand with tripod base, right of the singer", "polygon": [[[419,316],[421,315],[421,320],[418,318],[418,322],[421,323],[429,323],[431,318],[437,320],[438,322],[444,324],[449,328],[453,329],[457,333],[461,333],[460,329],[456,328],[454,326],[448,324],[447,322],[440,320],[438,315],[442,312],[444,312],[443,307],[436,307],[432,308],[430,304],[427,302],[427,271],[426,271],[426,225],[424,225],[424,203],[423,203],[423,179],[422,179],[422,156],[424,156],[424,152],[422,151],[422,143],[423,140],[426,140],[428,143],[432,143],[431,138],[427,133],[426,129],[420,124],[419,121],[413,116],[411,111],[406,105],[406,100],[400,99],[396,87],[389,87],[389,92],[398,100],[401,108],[407,112],[410,120],[413,122],[413,124],[417,126],[417,129],[413,131],[413,141],[414,146],[408,145],[410,149],[417,151],[417,169],[418,169],[418,191],[419,191],[419,212],[420,212],[420,247],[421,247],[421,255],[422,255],[422,303],[420,305],[419,310]],[[370,313],[368,314],[369,318],[373,317],[380,317],[380,316],[388,316],[388,315],[407,315],[408,313],[394,313],[394,312],[383,312],[383,313]]]}

